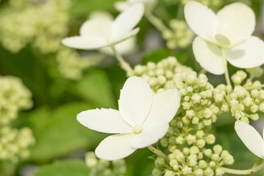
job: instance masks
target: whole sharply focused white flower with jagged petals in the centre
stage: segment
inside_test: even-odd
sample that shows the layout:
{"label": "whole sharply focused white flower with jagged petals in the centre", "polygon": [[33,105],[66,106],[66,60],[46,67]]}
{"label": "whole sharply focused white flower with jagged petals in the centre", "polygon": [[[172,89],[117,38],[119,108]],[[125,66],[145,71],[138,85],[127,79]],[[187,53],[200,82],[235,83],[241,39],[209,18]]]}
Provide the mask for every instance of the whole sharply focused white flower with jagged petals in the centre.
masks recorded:
{"label": "whole sharply focused white flower with jagged petals in the centre", "polygon": [[175,88],[152,96],[149,84],[133,76],[127,79],[120,92],[119,111],[86,110],[77,115],[77,120],[92,130],[119,133],[101,141],[95,154],[106,160],[121,159],[138,148],[156,143],[166,134],[180,99]]}

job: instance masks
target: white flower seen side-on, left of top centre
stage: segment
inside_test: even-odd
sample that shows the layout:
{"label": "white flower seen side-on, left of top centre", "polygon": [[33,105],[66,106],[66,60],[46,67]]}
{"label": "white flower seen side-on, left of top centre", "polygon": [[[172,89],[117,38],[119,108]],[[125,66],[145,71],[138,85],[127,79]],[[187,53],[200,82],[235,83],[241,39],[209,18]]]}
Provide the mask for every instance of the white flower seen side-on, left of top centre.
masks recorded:
{"label": "white flower seen side-on, left of top centre", "polygon": [[[144,14],[144,5],[136,3],[119,14],[114,21],[107,18],[95,18],[88,20],[80,28],[80,36],[68,37],[62,40],[65,46],[83,50],[103,50],[109,52],[107,46],[116,46],[139,32],[139,28],[133,29]],[[123,46],[122,46],[123,45]],[[120,52],[126,50],[128,43],[122,43]],[[123,48],[122,48],[123,47]],[[128,47],[129,48],[129,47]]]}

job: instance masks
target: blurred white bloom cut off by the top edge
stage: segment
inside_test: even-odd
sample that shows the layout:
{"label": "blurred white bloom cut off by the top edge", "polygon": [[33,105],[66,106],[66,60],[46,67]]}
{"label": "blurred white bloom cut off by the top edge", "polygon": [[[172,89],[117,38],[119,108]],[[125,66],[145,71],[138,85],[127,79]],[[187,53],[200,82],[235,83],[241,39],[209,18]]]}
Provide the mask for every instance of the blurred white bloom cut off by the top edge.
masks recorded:
{"label": "blurred white bloom cut off by the top edge", "polygon": [[144,3],[146,11],[152,11],[157,3],[158,0],[126,0],[126,1],[116,1],[114,3],[114,8],[119,12],[126,10],[128,7],[135,3]]}

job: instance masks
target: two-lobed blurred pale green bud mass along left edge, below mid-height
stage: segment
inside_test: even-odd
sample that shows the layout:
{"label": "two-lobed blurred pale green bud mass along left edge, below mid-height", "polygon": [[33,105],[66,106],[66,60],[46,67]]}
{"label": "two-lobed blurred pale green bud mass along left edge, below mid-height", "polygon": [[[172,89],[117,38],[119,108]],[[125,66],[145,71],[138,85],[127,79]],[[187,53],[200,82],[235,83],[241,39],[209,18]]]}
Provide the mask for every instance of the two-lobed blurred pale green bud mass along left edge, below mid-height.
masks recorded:
{"label": "two-lobed blurred pale green bud mass along left edge, below mid-height", "polygon": [[0,81],[0,160],[17,162],[29,157],[28,148],[34,145],[35,139],[30,128],[15,129],[11,126],[19,110],[32,108],[32,95],[18,77],[1,76]]}

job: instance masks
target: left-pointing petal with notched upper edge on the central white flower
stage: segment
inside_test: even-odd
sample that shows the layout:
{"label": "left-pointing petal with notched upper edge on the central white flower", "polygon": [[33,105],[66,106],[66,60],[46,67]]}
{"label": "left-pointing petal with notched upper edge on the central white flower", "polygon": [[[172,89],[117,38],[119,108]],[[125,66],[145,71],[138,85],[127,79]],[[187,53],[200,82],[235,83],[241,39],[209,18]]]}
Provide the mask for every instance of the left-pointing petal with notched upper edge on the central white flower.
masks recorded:
{"label": "left-pointing petal with notched upper edge on the central white flower", "polygon": [[77,120],[83,126],[103,133],[133,133],[133,128],[114,109],[86,110],[77,115]]}

